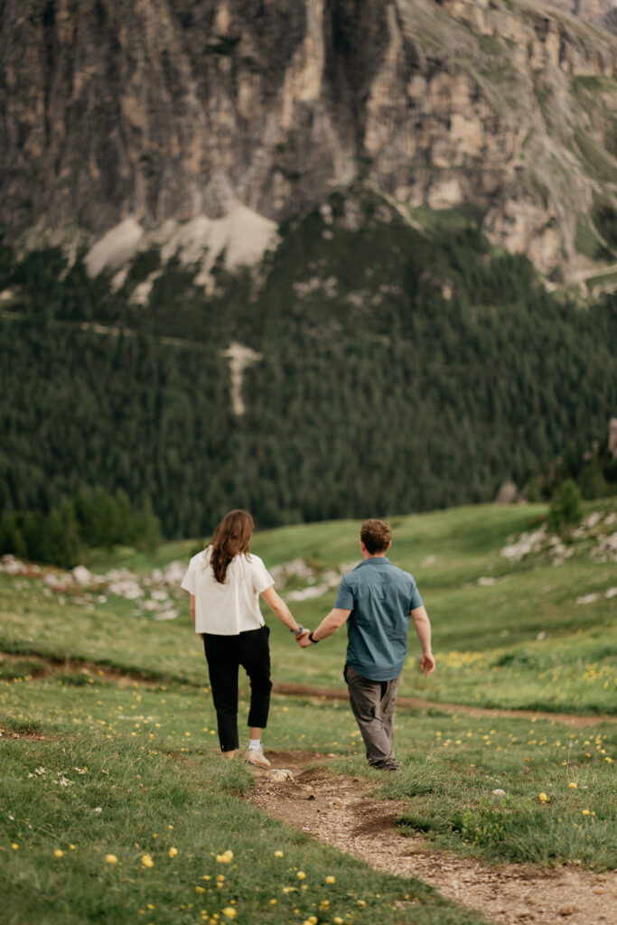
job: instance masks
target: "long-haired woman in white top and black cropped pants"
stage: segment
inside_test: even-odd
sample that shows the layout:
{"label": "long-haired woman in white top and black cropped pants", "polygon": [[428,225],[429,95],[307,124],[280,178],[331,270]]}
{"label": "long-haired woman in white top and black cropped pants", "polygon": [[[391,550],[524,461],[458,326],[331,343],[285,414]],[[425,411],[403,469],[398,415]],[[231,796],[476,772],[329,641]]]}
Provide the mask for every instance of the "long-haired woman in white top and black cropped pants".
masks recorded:
{"label": "long-haired woman in white top and black cropped pants", "polygon": [[181,587],[191,595],[195,632],[204,640],[210,686],[224,758],[233,758],[238,739],[238,669],[251,682],[247,761],[269,768],[261,744],[270,707],[269,629],[259,597],[296,637],[303,629],[274,589],[274,579],[259,556],[249,553],[253,517],[230,511],[216,527],[210,546],[193,556]]}

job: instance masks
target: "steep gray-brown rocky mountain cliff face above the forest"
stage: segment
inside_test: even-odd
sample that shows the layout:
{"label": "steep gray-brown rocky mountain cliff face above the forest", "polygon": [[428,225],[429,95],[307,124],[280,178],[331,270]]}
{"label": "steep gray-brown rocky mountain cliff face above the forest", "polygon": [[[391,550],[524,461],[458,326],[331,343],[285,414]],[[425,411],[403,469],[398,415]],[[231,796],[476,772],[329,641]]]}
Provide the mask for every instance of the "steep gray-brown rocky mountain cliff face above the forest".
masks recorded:
{"label": "steep gray-brown rocky mountain cliff face above the forest", "polygon": [[213,222],[250,214],[272,240],[360,177],[402,209],[473,210],[547,274],[614,257],[617,42],[585,21],[614,27],[610,3],[6,0],[0,16],[8,228],[123,223],[134,253],[191,223],[220,249]]}

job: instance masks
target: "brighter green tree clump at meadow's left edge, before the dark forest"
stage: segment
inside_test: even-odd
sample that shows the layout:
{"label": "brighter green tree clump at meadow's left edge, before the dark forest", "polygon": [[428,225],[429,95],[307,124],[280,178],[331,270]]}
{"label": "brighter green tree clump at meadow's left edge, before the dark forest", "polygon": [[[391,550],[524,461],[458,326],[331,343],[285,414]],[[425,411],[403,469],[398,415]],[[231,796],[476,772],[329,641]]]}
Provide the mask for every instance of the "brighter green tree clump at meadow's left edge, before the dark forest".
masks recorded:
{"label": "brighter green tree clump at meadow's left edge, before the dark forest", "polygon": [[156,549],[160,524],[150,499],[135,510],[121,488],[115,495],[99,488],[81,491],[47,513],[4,512],[0,520],[0,555],[50,562],[63,568],[77,565],[85,549],[134,546]]}

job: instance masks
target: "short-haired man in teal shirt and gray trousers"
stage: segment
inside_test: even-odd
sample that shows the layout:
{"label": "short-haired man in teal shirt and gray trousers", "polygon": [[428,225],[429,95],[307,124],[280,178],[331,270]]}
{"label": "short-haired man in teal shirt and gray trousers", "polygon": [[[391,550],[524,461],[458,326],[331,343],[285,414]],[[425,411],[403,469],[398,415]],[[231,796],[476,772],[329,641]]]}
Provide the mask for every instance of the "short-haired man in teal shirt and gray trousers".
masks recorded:
{"label": "short-haired man in teal shirt and gray trousers", "polygon": [[312,633],[298,638],[315,646],[347,622],[348,646],[343,672],[353,715],[374,768],[399,771],[392,751],[394,706],[407,655],[411,616],[422,646],[420,671],[435,670],[431,626],[413,576],[386,558],[392,533],[385,521],[367,520],[360,530],[363,561],[344,576],[334,609]]}

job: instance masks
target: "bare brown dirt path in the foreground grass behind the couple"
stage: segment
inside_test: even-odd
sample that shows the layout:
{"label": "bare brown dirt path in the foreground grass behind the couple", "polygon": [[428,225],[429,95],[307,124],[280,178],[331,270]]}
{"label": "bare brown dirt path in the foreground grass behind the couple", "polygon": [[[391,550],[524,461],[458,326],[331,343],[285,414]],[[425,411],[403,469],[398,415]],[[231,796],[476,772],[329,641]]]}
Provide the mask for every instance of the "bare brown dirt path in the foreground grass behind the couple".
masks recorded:
{"label": "bare brown dirt path in the foreground grass behind the couple", "polygon": [[[613,925],[617,909],[614,871],[599,874],[577,867],[531,865],[493,867],[448,851],[426,847],[395,829],[402,802],[366,796],[373,784],[306,768],[324,756],[272,752],[273,767],[290,768],[294,781],[275,783],[256,771],[247,797],[274,819],[287,822],[320,842],[360,857],[375,870],[418,877],[449,899],[500,925]],[[306,769],[306,770],[302,770]]]}

